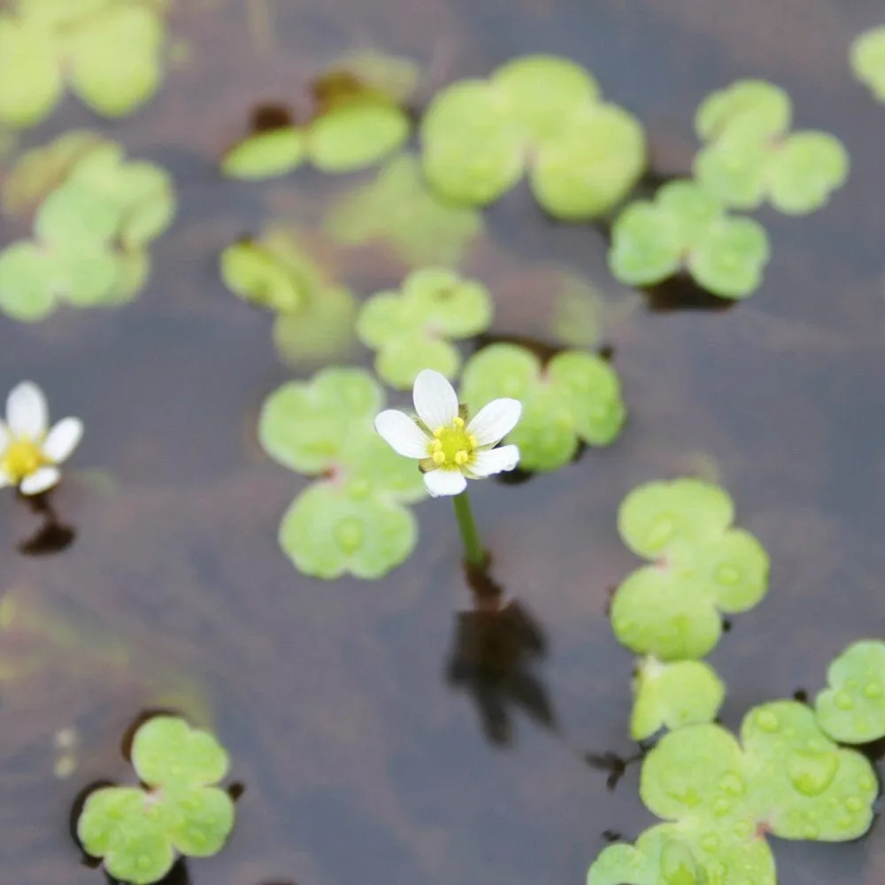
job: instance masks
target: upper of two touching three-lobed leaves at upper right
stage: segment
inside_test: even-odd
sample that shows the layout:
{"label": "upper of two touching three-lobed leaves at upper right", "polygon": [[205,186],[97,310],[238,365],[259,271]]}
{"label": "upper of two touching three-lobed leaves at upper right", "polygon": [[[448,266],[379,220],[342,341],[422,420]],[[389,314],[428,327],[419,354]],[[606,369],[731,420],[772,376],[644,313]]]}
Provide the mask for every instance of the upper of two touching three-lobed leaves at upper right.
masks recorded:
{"label": "upper of two touching three-lobed leaves at upper right", "polygon": [[766,200],[787,215],[820,209],[848,178],[848,152],[835,135],[789,132],[791,117],[787,93],[766,81],[735,81],[707,96],[695,118],[704,142],[697,181],[733,209]]}

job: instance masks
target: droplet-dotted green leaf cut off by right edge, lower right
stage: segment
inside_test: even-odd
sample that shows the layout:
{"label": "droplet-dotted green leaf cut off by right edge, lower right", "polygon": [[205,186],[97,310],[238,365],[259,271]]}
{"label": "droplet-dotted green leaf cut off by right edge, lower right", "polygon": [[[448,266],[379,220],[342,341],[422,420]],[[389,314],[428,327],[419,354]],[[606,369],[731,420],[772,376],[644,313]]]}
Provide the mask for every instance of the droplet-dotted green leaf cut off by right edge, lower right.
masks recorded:
{"label": "droplet-dotted green leaf cut off by right edge, lower right", "polygon": [[885,736],[885,643],[852,643],[827,670],[827,689],[814,702],[818,725],[839,743]]}

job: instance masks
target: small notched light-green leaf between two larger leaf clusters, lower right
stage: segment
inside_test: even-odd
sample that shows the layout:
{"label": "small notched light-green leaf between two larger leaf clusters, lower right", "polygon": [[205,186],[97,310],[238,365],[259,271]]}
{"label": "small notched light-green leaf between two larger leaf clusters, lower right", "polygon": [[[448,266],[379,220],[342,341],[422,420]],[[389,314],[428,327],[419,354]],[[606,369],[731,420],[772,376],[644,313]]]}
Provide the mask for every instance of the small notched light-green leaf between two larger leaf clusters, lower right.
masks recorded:
{"label": "small notched light-green leaf between two larger leaf clusters, lower right", "polygon": [[663,727],[712,722],[724,699],[724,683],[703,661],[645,658],[635,674],[630,737],[643,741]]}

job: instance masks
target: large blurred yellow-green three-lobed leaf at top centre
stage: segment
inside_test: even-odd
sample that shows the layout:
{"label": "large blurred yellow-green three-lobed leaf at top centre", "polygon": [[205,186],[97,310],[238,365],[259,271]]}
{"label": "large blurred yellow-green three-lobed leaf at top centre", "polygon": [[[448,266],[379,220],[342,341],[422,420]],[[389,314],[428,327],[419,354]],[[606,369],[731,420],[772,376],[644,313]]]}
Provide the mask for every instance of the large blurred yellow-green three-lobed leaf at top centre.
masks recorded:
{"label": "large blurred yellow-green three-lobed leaf at top centre", "polygon": [[421,123],[424,172],[443,196],[493,203],[528,172],[538,203],[560,219],[596,218],[645,166],[640,122],[607,104],[568,58],[514,58],[488,80],[438,93]]}

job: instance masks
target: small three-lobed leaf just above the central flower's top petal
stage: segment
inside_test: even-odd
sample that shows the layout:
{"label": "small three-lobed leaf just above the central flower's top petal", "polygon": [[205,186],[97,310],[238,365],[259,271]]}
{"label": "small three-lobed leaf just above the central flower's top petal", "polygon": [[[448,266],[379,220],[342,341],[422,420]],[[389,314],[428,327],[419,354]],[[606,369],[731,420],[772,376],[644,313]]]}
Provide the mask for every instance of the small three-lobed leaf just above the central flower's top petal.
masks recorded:
{"label": "small three-lobed leaf just above the central flower's top petal", "polygon": [[412,387],[422,369],[452,379],[461,355],[450,339],[489,328],[494,305],[481,282],[439,267],[413,271],[398,292],[376,292],[357,319],[359,340],[377,351],[375,371],[396,389]]}

